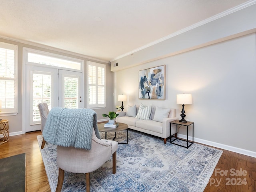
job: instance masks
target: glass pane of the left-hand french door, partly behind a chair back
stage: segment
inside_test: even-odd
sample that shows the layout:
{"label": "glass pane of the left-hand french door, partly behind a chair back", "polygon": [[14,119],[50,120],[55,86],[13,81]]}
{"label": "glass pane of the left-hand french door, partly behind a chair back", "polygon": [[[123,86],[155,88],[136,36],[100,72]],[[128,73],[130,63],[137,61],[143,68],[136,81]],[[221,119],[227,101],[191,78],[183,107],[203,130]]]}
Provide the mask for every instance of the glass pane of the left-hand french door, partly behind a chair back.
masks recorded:
{"label": "glass pane of the left-hand french door, partly behind a chair back", "polygon": [[52,76],[48,74],[33,73],[33,115],[32,122],[41,120],[38,103],[46,102],[51,109],[52,98]]}

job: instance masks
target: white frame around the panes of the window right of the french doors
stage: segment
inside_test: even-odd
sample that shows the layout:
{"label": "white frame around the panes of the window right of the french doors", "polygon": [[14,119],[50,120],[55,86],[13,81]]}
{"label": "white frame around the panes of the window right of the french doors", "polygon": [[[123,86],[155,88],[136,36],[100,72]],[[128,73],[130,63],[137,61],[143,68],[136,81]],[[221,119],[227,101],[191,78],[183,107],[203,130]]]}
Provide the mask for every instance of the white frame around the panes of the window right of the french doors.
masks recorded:
{"label": "white frame around the panes of the window right of the french doors", "polygon": [[[93,84],[89,84],[89,70],[88,66],[95,66],[96,67],[96,104],[89,104],[89,98],[90,98],[90,92],[89,92],[89,86]],[[98,84],[98,67],[104,68],[104,85]],[[98,104],[98,87],[104,87],[104,104]],[[101,63],[96,63],[92,61],[86,61],[86,107],[87,108],[94,108],[94,109],[101,109],[106,107],[106,65]]]}

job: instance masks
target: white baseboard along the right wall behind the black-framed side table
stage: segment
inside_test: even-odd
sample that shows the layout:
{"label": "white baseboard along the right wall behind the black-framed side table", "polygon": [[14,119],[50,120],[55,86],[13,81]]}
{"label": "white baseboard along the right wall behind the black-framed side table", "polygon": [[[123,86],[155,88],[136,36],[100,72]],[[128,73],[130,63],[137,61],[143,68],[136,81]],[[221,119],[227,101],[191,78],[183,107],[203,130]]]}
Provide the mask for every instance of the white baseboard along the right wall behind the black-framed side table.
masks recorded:
{"label": "white baseboard along the right wall behind the black-framed side table", "polygon": [[[182,138],[182,139],[187,139],[187,136],[183,135],[183,134],[178,134],[178,137]],[[188,140],[192,140],[192,136],[188,136]],[[232,146],[228,146],[228,145],[225,145],[225,144],[216,143],[216,142],[212,142],[212,141],[208,141],[208,140],[204,140],[204,139],[199,139],[199,138],[195,138],[195,137],[194,137],[194,142],[198,142],[198,143],[201,143],[201,144],[209,145],[209,146],[212,146],[212,147],[217,147],[217,148],[220,148],[220,149],[224,149],[224,150],[228,150],[228,151],[232,151],[232,152],[236,152],[236,153],[239,153],[239,154],[243,154],[243,155],[247,155],[247,156],[256,158],[256,152],[254,152],[254,151],[249,151],[249,150],[246,150],[246,149],[232,147]]]}

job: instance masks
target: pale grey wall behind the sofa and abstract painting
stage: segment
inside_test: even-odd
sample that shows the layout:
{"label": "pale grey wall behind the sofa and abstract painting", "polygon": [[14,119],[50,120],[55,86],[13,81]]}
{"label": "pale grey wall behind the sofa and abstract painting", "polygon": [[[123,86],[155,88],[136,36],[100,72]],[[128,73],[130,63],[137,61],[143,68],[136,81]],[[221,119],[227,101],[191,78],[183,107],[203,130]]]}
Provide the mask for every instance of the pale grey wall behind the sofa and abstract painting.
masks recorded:
{"label": "pale grey wall behind the sofa and abstract painting", "polygon": [[[160,65],[166,65],[166,100],[139,100],[138,71]],[[114,81],[115,93],[128,95],[125,109],[152,104],[176,108],[179,116],[176,94],[191,93],[185,111],[195,138],[256,152],[255,33],[117,71]]]}

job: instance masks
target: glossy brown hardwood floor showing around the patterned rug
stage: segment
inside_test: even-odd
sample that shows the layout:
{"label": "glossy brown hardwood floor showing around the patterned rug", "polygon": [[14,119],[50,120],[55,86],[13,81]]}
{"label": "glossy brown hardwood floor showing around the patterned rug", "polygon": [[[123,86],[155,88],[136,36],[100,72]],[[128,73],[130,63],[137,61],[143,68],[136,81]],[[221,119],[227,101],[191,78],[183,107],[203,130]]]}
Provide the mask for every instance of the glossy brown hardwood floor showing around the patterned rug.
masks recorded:
{"label": "glossy brown hardwood floor showing around the patterned rug", "polygon": [[[48,178],[33,132],[11,136],[0,145],[0,158],[26,153],[26,191],[50,192]],[[246,182],[246,183],[245,183]],[[223,150],[223,154],[204,192],[255,192],[256,158]]]}

